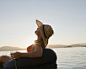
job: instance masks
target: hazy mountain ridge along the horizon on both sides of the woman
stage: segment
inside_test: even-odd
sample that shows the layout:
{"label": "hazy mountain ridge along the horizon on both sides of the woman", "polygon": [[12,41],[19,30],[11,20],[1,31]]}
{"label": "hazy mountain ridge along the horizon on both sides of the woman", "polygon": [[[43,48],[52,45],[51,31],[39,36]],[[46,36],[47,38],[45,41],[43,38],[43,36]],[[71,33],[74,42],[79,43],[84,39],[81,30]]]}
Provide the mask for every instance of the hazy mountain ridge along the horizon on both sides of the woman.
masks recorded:
{"label": "hazy mountain ridge along the horizon on both sides of the woman", "polygon": [[[48,45],[47,48],[67,48],[67,47],[86,47],[86,43],[78,43],[78,44],[71,44],[71,45]],[[3,46],[0,47],[0,51],[12,51],[12,50],[25,50],[25,48],[19,47],[12,47],[12,46]]]}

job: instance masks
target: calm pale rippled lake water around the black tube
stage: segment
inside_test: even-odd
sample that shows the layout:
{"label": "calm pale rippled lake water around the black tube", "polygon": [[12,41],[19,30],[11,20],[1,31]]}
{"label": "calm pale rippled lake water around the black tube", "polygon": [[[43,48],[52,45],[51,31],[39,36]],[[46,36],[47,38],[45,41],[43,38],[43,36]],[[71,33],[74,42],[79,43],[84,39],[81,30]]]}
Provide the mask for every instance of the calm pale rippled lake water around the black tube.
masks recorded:
{"label": "calm pale rippled lake water around the black tube", "polygon": [[[54,48],[53,50],[57,54],[56,69],[86,69],[86,47]],[[1,55],[10,55],[10,51],[0,51]]]}

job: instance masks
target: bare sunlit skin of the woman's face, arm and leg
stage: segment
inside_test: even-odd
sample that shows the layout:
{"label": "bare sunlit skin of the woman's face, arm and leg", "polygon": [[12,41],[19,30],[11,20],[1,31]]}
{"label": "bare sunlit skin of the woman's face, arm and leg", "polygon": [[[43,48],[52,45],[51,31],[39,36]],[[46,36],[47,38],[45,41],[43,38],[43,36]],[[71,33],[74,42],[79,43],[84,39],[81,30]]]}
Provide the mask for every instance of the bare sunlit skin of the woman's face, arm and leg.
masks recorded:
{"label": "bare sunlit skin of the woman's face, arm and leg", "polygon": [[[37,30],[35,31],[35,34],[37,35],[37,40],[42,39],[39,28],[37,28]],[[27,52],[27,53],[16,52],[16,53],[11,54],[11,57],[1,56],[0,64],[3,64],[9,60],[12,60],[12,58],[18,59],[20,57],[31,57],[31,58],[41,57],[42,53],[43,53],[43,48],[41,46],[33,45],[31,52]]]}

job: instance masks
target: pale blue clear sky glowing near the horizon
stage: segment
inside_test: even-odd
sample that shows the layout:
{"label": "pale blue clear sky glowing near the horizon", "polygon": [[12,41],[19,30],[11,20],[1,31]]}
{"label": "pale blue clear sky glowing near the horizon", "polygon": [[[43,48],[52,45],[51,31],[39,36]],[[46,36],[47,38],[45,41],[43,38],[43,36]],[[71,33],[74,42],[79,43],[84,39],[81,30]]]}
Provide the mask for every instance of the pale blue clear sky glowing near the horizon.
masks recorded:
{"label": "pale blue clear sky glowing near the horizon", "polygon": [[36,19],[52,26],[49,45],[86,43],[86,0],[0,0],[0,47],[31,45]]}

